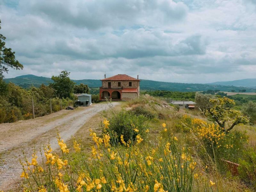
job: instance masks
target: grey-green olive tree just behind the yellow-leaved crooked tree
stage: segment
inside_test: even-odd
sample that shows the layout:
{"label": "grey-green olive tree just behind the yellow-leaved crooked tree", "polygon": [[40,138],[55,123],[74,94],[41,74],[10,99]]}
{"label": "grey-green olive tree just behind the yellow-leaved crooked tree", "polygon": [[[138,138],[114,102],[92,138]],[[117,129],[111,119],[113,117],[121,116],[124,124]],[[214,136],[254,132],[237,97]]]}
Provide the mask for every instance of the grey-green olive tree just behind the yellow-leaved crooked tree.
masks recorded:
{"label": "grey-green olive tree just behind the yellow-leaved crooked tree", "polygon": [[195,96],[195,102],[196,106],[204,113],[206,112],[206,109],[211,106],[210,99],[214,98],[214,95],[212,94],[203,94],[196,92]]}

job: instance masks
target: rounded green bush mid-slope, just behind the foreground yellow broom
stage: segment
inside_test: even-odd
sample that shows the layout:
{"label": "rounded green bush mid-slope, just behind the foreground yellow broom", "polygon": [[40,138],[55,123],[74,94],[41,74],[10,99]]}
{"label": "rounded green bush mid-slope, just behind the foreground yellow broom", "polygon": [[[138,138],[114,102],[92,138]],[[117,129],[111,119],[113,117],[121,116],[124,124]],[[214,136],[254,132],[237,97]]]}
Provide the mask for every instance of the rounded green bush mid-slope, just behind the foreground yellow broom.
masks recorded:
{"label": "rounded green bush mid-slope, just behind the foreground yellow broom", "polygon": [[[109,130],[114,133],[115,138],[111,140],[118,140],[124,135],[124,141],[135,140],[136,136],[140,134],[141,137],[145,135],[145,130],[148,129],[148,118],[143,115],[134,115],[130,111],[121,110],[118,113],[113,113],[109,119]],[[139,132],[134,131],[138,129]],[[111,134],[113,135],[113,134]]]}

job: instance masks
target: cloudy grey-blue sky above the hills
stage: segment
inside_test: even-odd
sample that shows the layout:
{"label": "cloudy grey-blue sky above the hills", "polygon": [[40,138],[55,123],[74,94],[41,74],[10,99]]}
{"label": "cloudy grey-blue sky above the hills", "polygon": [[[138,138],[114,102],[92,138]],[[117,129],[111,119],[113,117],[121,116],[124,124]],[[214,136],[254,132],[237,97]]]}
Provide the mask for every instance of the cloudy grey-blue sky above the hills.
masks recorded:
{"label": "cloudy grey-blue sky above the hills", "polygon": [[256,78],[256,0],[0,0],[0,19],[24,65],[6,78]]}

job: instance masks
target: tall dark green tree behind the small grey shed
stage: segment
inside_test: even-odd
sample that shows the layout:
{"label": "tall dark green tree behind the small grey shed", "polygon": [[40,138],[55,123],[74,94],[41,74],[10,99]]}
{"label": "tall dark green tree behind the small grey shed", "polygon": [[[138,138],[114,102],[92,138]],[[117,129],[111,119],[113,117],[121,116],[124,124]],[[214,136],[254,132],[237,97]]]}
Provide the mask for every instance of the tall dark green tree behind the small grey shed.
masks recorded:
{"label": "tall dark green tree behind the small grey shed", "polygon": [[72,98],[75,83],[68,77],[70,72],[61,71],[59,76],[52,76],[54,83],[50,87],[56,90],[56,96],[59,98]]}

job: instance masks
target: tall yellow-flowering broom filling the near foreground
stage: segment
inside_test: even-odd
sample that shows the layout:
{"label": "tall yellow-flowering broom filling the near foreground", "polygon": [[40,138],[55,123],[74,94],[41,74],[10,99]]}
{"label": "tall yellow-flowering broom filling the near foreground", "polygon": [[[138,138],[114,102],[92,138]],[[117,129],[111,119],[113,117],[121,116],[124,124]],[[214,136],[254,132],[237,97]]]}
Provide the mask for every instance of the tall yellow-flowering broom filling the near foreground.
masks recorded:
{"label": "tall yellow-flowering broom filling the near foreground", "polygon": [[[61,156],[53,154],[48,145],[44,147],[43,165],[37,162],[36,151],[31,162],[25,157],[20,175],[24,178],[23,190],[175,192],[196,189],[193,183],[194,178],[198,179],[196,162],[174,138],[156,145],[142,146],[137,142],[122,147],[112,146],[109,134],[100,138],[91,131],[90,135],[94,143],[89,158],[85,158],[76,140],[73,141],[76,152],[68,155],[69,149],[60,136]],[[209,191],[215,183],[206,182],[211,186],[206,184],[204,191]]]}

